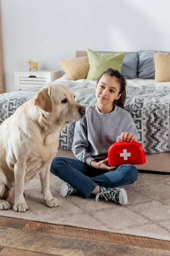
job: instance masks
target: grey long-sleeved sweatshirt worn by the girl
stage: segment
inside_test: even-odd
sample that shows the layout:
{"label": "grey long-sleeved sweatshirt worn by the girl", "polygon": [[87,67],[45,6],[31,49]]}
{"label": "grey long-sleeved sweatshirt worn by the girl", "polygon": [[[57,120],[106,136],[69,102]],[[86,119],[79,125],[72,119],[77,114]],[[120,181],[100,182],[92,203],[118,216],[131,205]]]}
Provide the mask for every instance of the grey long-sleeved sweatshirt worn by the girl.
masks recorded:
{"label": "grey long-sleeved sweatshirt worn by the girl", "polygon": [[138,140],[138,132],[132,116],[123,108],[115,106],[108,114],[100,113],[97,104],[86,109],[83,119],[76,122],[72,151],[83,163],[108,157],[108,148],[122,132],[132,133]]}

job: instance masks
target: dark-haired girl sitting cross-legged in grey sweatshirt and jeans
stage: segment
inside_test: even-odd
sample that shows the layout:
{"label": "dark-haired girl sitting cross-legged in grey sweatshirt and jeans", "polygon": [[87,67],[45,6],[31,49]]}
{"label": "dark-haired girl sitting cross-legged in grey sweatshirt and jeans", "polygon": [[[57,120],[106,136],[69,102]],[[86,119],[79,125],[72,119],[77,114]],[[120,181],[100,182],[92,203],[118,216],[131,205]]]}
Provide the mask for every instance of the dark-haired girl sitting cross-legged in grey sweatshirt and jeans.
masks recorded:
{"label": "dark-haired girl sitting cross-legged in grey sweatshirt and jeans", "polygon": [[109,68],[96,83],[95,105],[86,109],[86,116],[76,122],[72,151],[77,157],[55,157],[51,172],[64,180],[62,197],[80,192],[85,198],[96,195],[106,201],[127,204],[125,189],[134,183],[138,170],[130,164],[108,166],[108,148],[121,134],[121,141],[136,141],[138,132],[133,118],[124,110],[126,81],[118,70]]}

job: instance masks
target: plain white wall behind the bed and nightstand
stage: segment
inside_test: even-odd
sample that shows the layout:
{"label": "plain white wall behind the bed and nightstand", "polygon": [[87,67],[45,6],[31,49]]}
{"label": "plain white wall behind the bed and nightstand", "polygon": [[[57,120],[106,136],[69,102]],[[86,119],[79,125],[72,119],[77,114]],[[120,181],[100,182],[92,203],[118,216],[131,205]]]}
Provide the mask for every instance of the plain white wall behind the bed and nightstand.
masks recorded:
{"label": "plain white wall behind the bed and nightstand", "polygon": [[59,60],[87,48],[170,51],[169,10],[169,0],[1,0],[6,91],[30,58],[60,69]]}

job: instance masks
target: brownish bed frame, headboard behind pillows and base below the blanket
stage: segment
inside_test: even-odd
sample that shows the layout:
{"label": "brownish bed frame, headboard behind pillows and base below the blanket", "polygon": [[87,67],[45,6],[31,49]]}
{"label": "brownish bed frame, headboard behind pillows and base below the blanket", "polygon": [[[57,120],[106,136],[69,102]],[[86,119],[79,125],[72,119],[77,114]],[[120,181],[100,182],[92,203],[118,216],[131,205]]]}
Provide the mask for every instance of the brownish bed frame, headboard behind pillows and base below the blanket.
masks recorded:
{"label": "brownish bed frame, headboard behind pillows and base below the blanket", "polygon": [[[115,52],[110,52],[115,53]],[[127,52],[130,53],[130,52]],[[86,51],[77,51],[77,57],[86,56]],[[170,153],[163,154],[145,154],[146,163],[143,165],[136,166],[137,169],[156,171],[156,172],[170,172]]]}

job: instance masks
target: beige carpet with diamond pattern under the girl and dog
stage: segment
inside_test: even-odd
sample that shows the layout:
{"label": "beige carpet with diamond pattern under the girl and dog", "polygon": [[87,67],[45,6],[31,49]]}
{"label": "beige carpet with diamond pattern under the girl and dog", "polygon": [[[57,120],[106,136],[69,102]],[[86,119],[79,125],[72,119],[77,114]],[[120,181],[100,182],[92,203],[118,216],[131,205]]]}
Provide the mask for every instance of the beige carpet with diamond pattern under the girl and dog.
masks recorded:
{"label": "beige carpet with diamond pattern under the girl and dog", "polygon": [[[170,241],[170,175],[140,173],[136,183],[124,187],[126,206],[104,199],[96,202],[94,196],[85,199],[79,194],[61,198],[61,183],[50,175],[51,193],[59,199],[60,207],[46,207],[38,176],[25,185],[28,211],[0,211],[0,216]],[[12,209],[14,197],[9,203]]]}

